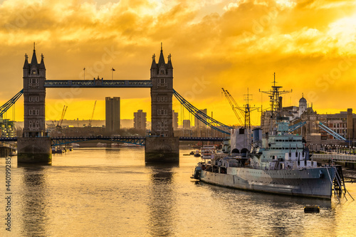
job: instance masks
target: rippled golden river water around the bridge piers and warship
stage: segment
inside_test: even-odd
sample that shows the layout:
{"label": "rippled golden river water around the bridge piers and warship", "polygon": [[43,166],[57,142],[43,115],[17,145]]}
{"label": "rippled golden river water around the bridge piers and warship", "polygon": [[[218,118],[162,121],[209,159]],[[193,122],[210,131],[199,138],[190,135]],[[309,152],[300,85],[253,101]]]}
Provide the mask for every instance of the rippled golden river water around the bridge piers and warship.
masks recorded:
{"label": "rippled golden river water around the bridge piers and warship", "polygon": [[[146,165],[143,147],[80,148],[50,166],[11,158],[11,232],[0,159],[0,236],[355,236],[356,201],[226,189],[190,179],[199,158]],[[356,184],[347,182],[356,198]],[[304,205],[320,205],[305,214]]]}

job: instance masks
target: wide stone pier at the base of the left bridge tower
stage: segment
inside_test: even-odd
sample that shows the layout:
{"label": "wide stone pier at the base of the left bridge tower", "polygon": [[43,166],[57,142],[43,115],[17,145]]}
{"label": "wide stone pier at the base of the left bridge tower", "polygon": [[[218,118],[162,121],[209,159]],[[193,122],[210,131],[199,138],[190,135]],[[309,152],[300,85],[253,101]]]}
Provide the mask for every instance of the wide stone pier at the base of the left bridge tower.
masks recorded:
{"label": "wide stone pier at the base of the left bridge tower", "polygon": [[17,162],[51,164],[51,137],[19,137]]}

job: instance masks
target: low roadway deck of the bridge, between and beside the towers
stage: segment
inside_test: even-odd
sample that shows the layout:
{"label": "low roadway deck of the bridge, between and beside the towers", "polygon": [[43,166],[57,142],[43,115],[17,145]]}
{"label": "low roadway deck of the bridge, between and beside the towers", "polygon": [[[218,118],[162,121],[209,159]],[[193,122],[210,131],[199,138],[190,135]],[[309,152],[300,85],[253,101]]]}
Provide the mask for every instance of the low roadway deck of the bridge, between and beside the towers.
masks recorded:
{"label": "low roadway deck of the bridge, between and beside the towers", "polygon": [[[124,142],[145,146],[146,137],[122,137],[122,136],[88,136],[88,137],[51,137],[52,146],[60,146],[73,142],[85,142],[93,140],[105,140],[112,142]],[[223,137],[179,137],[179,141],[222,142]],[[17,142],[17,137],[0,137],[0,142]]]}

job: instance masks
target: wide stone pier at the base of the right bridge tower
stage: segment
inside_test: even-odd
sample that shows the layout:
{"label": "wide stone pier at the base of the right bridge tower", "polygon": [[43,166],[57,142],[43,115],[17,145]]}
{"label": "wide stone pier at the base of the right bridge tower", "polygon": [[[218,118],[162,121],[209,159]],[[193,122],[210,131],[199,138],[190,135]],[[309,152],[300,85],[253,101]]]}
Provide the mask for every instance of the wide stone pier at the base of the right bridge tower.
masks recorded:
{"label": "wide stone pier at the base of the right bridge tower", "polygon": [[146,137],[146,163],[179,163],[179,137]]}

